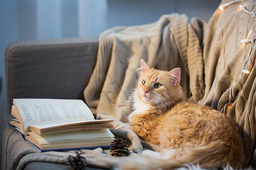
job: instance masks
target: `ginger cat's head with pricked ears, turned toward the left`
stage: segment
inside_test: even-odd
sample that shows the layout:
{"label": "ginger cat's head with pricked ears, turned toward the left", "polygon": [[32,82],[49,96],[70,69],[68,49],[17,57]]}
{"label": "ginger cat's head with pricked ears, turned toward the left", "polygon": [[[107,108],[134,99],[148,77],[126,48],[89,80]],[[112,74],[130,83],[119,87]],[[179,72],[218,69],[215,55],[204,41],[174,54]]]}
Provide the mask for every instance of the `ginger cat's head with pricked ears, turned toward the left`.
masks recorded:
{"label": "ginger cat's head with pricked ears, turned toward the left", "polygon": [[[144,60],[141,62],[141,74],[135,89],[137,98],[152,106],[168,105],[180,95],[179,80],[181,71],[179,68],[164,72],[151,69]],[[180,97],[180,96],[178,96]]]}

